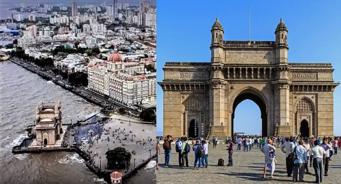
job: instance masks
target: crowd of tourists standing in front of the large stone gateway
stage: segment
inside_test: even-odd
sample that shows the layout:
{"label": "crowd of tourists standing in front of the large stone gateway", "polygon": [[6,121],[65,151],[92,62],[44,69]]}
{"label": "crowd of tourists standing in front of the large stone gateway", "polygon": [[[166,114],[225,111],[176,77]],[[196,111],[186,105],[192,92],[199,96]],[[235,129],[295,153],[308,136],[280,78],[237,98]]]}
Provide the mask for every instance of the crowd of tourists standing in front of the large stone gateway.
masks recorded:
{"label": "crowd of tourists standing in front of the large stone gateway", "polygon": [[[273,178],[275,163],[277,162],[275,159],[276,148],[280,147],[286,156],[287,175],[292,177],[293,182],[304,182],[304,173],[312,174],[309,172],[309,163],[309,166],[313,167],[315,171],[315,182],[322,183],[323,177],[329,176],[329,162],[332,161],[332,156],[338,154],[338,148],[341,149],[340,139],[341,137],[323,137],[322,139],[320,137],[303,138],[300,134],[297,137],[261,137],[257,135],[234,134],[234,137],[231,139],[226,137],[224,140],[228,151],[227,166],[233,166],[235,144],[237,144],[237,150],[244,151],[249,151],[257,146],[265,154],[264,175],[262,177],[266,177],[266,172],[269,170],[270,177]],[[176,139],[170,135],[165,137],[163,143],[165,165],[170,163],[171,143],[173,141],[175,141],[175,151],[178,153],[179,167],[189,167],[188,154],[191,150],[189,145],[191,141],[188,141],[186,137]],[[195,156],[194,169],[208,167],[209,143],[212,143],[212,147],[216,148],[218,138],[213,137],[212,141],[201,137],[198,137],[197,141],[192,140],[192,149]],[[158,153],[161,154],[160,150]]]}

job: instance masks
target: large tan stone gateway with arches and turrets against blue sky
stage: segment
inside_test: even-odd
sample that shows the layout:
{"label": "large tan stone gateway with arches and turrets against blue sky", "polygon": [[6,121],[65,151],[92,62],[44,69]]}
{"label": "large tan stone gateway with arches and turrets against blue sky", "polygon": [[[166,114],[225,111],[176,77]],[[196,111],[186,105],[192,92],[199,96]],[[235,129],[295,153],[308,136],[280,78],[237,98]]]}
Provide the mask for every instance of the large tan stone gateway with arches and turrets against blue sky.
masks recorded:
{"label": "large tan stone gateway with arches and turrets against blue sky", "polygon": [[211,62],[163,68],[164,135],[233,136],[235,109],[249,99],[261,110],[263,136],[333,136],[333,92],[340,83],[332,64],[289,63],[282,19],[275,41],[224,41],[218,18],[211,33]]}

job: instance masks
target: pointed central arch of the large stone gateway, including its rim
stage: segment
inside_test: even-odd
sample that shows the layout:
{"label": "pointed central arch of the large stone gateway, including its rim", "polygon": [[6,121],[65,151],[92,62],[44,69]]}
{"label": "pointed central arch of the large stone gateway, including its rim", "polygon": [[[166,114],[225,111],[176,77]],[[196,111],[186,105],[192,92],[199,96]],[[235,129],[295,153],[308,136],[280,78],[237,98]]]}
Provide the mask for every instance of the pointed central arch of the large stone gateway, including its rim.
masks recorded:
{"label": "pointed central arch of the large stone gateway, including its rim", "polygon": [[[231,114],[231,137],[233,137],[234,133],[234,118],[235,118],[235,110],[239,103],[244,100],[251,100],[255,102],[261,111],[262,118],[262,136],[268,137],[268,105],[265,96],[259,90],[247,87],[242,90],[237,97],[235,97],[232,103],[232,114]],[[252,120],[250,120],[252,121]]]}

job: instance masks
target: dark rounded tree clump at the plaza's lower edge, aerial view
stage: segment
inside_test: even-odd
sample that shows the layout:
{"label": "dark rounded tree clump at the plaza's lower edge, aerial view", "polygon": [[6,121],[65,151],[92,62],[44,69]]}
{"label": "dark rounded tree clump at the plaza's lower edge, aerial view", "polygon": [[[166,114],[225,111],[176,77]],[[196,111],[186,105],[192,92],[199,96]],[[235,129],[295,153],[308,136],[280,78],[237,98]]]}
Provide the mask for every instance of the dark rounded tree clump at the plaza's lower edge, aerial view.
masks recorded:
{"label": "dark rounded tree clump at the plaza's lower edge, aerial view", "polygon": [[116,147],[105,153],[108,162],[108,169],[129,168],[131,154],[123,147]]}

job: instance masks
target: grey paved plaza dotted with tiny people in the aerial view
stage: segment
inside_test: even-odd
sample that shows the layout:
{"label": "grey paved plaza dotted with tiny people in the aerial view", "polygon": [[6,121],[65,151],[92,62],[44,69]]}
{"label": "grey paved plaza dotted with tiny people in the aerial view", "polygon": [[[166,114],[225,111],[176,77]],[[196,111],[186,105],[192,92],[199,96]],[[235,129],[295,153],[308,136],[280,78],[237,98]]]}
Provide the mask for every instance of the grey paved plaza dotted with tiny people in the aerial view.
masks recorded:
{"label": "grey paved plaza dotted with tiny people in the aerial view", "polygon": [[[113,137],[113,132],[115,132],[115,129],[117,129],[117,133],[115,134],[116,136],[119,136],[118,138]],[[102,130],[108,130],[110,133]],[[121,131],[123,131],[124,133],[119,134],[118,132]],[[129,122],[111,120],[108,123],[104,123],[104,125],[88,124],[85,126],[75,127],[75,139],[76,142],[81,145],[81,149],[92,151],[92,153],[90,154],[91,158],[94,159],[95,164],[98,167],[100,163],[102,169],[106,168],[107,160],[105,153],[106,151],[108,151],[108,148],[114,149],[115,147],[121,146],[128,150],[130,153],[132,151],[135,151],[136,154],[132,154],[130,162],[130,168],[134,168],[134,158],[136,159],[135,164],[137,166],[138,164],[142,163],[143,159],[146,160],[150,157],[150,149],[151,154],[155,154],[155,148],[153,148],[156,143],[155,131],[156,127],[152,124],[130,123],[129,125]],[[124,134],[126,134],[127,136],[124,136]],[[133,141],[130,140],[132,139],[132,135]],[[107,140],[108,137],[109,141]],[[148,137],[154,139],[154,141],[152,140],[149,143],[149,141],[147,140]],[[127,140],[123,140],[123,138],[126,138]],[[121,143],[120,139],[122,141]],[[145,145],[137,143],[138,140],[141,140],[142,143],[145,142]],[[89,149],[90,142],[93,142],[93,145]],[[124,145],[122,145],[122,143],[124,143]],[[94,154],[95,152],[97,152],[98,156]],[[121,170],[121,172],[124,172],[124,170]]]}

